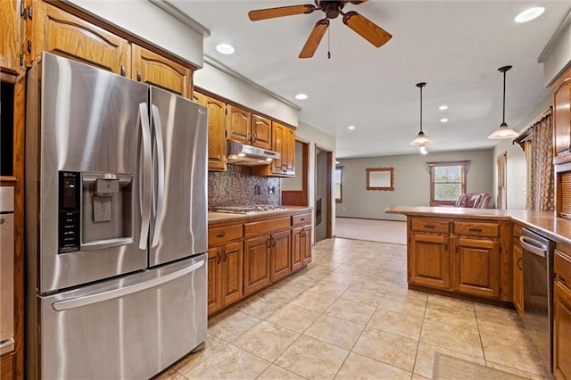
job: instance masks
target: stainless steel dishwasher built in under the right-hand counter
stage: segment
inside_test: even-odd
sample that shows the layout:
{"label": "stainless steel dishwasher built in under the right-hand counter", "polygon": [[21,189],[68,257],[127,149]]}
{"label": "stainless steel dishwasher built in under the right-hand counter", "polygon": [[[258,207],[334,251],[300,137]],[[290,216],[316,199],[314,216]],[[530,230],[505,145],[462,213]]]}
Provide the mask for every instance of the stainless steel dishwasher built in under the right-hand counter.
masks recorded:
{"label": "stainless steel dishwasher built in under the right-hand counter", "polygon": [[522,228],[519,238],[524,252],[525,330],[542,354],[547,368],[553,370],[553,252],[549,239]]}

